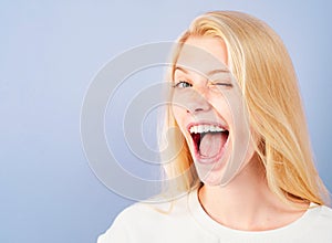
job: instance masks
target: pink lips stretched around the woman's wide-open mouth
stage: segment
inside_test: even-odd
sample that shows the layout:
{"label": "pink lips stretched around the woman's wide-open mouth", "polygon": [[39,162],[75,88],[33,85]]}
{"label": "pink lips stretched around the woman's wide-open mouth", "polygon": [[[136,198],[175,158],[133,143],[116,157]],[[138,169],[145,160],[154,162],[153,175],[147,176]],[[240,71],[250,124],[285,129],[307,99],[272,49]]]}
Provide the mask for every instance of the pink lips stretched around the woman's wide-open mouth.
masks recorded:
{"label": "pink lips stretched around the woman's wide-open mouth", "polygon": [[[228,133],[229,133],[229,128],[228,128],[228,126],[226,125],[226,123],[216,123],[216,122],[208,122],[208,120],[200,120],[200,122],[197,122],[197,123],[189,123],[189,124],[187,125],[187,131],[188,131],[189,137],[190,137],[190,139],[191,139],[191,145],[193,145],[193,149],[194,149],[194,154],[195,154],[195,159],[196,159],[199,163],[201,163],[201,165],[211,165],[211,163],[216,163],[217,161],[220,160],[220,158],[221,158],[221,157],[224,156],[224,154],[225,154],[225,149],[226,149],[226,147],[227,147],[228,144],[229,144],[230,133],[228,134],[228,137],[227,137],[226,142],[225,142],[224,146],[220,148],[220,150],[216,154],[216,156],[207,158],[207,157],[203,157],[203,156],[199,154],[199,151],[198,151],[198,149],[196,148],[196,145],[195,145],[194,140],[193,140],[191,133],[189,131],[190,128],[191,128],[193,126],[198,126],[198,125],[212,125],[212,126],[218,126],[218,127],[220,127],[220,128],[222,128],[222,129],[228,130]],[[216,169],[217,169],[217,168],[216,168]]]}

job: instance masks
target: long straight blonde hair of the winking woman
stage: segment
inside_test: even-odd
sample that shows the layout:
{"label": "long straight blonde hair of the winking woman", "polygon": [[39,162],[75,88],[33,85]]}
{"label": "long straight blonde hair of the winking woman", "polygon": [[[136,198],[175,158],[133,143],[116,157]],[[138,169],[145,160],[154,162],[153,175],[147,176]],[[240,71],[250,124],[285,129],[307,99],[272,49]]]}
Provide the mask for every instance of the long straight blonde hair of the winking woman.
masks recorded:
{"label": "long straight blonde hair of the winking woman", "polygon": [[[242,91],[250,126],[261,138],[256,151],[264,166],[270,190],[284,202],[324,204],[328,191],[314,167],[297,75],[276,32],[240,12],[214,11],[200,15],[178,40],[170,80],[189,36],[220,38],[226,43],[229,70]],[[169,127],[177,127],[170,106],[164,130]],[[174,146],[168,152],[175,152],[181,146],[179,139],[172,135],[168,139],[168,146]],[[188,191],[199,183],[186,142],[165,168],[169,178],[181,176],[178,189]]]}

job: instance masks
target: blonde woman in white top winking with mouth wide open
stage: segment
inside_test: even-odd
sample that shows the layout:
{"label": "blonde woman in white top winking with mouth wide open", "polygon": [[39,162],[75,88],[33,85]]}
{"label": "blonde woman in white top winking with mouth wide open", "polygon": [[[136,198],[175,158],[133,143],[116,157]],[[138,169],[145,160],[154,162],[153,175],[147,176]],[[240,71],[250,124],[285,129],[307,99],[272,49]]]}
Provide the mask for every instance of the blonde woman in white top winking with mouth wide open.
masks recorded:
{"label": "blonde woman in white top winking with mouth wide open", "polygon": [[165,128],[185,145],[168,141],[180,152],[166,171],[188,193],[129,207],[98,243],[332,242],[329,194],[279,36],[251,15],[208,12],[173,57]]}

